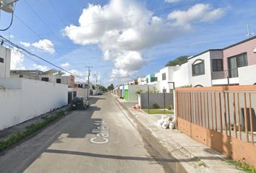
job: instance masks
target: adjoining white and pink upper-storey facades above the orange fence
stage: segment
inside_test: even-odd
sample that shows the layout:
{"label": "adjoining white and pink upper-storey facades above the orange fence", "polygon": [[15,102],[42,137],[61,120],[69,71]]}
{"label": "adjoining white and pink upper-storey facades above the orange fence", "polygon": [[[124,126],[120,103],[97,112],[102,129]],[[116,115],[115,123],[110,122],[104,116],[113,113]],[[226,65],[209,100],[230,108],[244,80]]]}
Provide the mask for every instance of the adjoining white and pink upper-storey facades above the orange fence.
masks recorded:
{"label": "adjoining white and pink upper-storey facades above the orange fence", "polygon": [[192,86],[256,84],[256,36],[188,58]]}

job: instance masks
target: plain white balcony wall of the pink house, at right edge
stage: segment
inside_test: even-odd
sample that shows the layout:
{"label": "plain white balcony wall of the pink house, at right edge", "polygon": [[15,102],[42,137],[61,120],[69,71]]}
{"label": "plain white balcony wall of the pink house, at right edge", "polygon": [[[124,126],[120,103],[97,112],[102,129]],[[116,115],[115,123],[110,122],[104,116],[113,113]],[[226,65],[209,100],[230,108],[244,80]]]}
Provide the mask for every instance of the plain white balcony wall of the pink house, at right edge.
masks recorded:
{"label": "plain white balcony wall of the pink house, at right edge", "polygon": [[238,68],[239,84],[252,85],[256,83],[256,65]]}

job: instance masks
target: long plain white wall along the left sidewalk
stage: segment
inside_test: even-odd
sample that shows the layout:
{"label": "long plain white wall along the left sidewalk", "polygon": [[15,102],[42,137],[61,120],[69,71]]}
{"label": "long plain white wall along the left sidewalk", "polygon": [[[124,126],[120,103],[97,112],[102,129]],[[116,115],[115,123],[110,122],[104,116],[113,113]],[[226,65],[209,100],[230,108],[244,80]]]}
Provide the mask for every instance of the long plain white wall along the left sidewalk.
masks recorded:
{"label": "long plain white wall along the left sidewalk", "polygon": [[0,79],[0,130],[67,105],[67,85],[31,79]]}

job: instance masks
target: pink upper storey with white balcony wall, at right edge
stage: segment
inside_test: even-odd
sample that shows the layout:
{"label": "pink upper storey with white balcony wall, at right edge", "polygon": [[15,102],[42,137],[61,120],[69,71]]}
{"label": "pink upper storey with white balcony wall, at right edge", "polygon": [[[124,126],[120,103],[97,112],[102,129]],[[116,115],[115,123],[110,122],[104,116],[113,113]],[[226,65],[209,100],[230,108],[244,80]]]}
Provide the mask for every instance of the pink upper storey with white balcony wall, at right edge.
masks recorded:
{"label": "pink upper storey with white balcony wall, at right edge", "polygon": [[212,85],[256,84],[256,36],[222,49],[223,71],[214,72],[217,76]]}

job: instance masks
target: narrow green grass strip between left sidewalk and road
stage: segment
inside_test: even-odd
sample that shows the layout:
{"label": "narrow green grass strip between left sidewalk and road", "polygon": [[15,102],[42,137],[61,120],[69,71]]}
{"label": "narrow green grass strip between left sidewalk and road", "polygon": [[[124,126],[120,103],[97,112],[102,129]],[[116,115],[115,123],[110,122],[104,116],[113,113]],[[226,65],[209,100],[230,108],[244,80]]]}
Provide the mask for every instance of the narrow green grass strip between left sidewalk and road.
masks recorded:
{"label": "narrow green grass strip between left sidewalk and road", "polygon": [[0,151],[14,145],[14,143],[21,141],[23,138],[26,138],[27,136],[30,136],[31,134],[35,133],[37,130],[40,130],[41,128],[46,127],[46,125],[48,125],[49,123],[53,122],[59,117],[64,116],[69,110],[70,108],[68,107],[66,110],[61,110],[57,112],[56,115],[43,117],[42,122],[29,125],[26,127],[26,130],[13,134],[12,136],[9,136],[9,138],[7,138],[4,141],[0,141]]}

